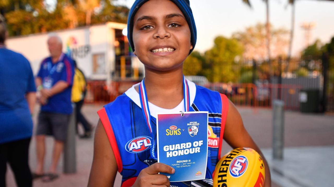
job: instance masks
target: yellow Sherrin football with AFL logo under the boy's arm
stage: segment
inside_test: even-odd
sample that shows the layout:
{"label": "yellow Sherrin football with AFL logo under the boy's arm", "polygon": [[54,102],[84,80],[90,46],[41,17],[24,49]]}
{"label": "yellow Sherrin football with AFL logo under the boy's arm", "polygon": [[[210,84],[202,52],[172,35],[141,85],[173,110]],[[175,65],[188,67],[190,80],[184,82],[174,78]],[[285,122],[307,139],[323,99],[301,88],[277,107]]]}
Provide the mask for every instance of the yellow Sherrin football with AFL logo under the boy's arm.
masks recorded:
{"label": "yellow Sherrin football with AFL logo under the boy's arm", "polygon": [[263,187],[265,166],[258,152],[239,147],[225,154],[213,174],[213,187]]}

